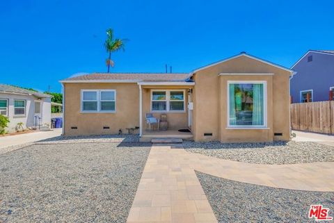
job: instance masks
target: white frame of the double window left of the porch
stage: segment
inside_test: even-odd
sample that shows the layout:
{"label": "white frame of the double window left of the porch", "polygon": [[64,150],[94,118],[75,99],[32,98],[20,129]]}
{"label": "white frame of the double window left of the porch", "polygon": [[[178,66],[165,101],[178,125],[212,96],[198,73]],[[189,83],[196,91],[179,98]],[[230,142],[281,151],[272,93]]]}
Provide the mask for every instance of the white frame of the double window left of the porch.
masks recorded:
{"label": "white frame of the double window left of the porch", "polygon": [[[96,100],[84,100],[84,92],[96,92]],[[115,100],[101,100],[101,92],[114,92]],[[97,101],[97,110],[84,110],[84,101]],[[101,101],[115,101],[115,110],[101,110]],[[116,90],[114,89],[100,89],[100,90],[81,90],[80,99],[80,112],[81,113],[116,113]]]}

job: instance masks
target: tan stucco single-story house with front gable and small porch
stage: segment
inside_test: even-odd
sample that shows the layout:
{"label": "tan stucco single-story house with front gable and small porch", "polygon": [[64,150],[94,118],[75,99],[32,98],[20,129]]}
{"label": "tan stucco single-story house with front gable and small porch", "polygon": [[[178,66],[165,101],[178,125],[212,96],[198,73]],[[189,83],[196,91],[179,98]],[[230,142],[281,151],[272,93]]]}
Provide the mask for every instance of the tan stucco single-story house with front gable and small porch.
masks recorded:
{"label": "tan stucco single-story house with front gable and small porch", "polygon": [[[86,74],[61,81],[64,135],[127,133],[141,139],[289,140],[294,72],[246,53],[186,74]],[[148,131],[145,115],[166,114],[168,131]],[[136,128],[137,127],[137,128]]]}

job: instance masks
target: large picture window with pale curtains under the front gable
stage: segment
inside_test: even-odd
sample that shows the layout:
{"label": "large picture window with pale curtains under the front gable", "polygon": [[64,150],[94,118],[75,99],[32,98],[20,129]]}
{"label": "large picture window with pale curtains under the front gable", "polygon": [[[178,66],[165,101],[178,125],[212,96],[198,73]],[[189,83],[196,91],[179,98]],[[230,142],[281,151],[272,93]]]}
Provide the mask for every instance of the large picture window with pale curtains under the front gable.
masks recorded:
{"label": "large picture window with pale curtains under the front gable", "polygon": [[228,126],[267,126],[266,81],[228,81]]}

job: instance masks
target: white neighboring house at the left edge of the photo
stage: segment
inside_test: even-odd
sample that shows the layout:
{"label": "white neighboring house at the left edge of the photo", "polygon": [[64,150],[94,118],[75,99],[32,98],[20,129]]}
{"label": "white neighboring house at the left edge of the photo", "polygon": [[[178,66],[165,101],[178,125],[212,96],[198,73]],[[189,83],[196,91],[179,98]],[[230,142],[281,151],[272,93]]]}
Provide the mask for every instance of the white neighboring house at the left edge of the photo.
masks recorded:
{"label": "white neighboring house at the left edge of the photo", "polygon": [[50,126],[51,96],[24,88],[0,84],[0,113],[9,118],[7,131],[15,132],[17,123],[24,128]]}

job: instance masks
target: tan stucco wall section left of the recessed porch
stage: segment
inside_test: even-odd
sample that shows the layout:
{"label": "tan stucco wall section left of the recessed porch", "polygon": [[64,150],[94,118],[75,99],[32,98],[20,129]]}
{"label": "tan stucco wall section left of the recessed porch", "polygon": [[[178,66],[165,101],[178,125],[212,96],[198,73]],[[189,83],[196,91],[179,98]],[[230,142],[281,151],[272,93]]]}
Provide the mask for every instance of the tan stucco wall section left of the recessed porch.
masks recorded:
{"label": "tan stucco wall section left of the recessed porch", "polygon": [[[64,83],[65,135],[118,133],[139,126],[139,88],[136,83]],[[116,90],[116,113],[81,113],[81,90]],[[71,129],[77,126],[77,129]],[[110,129],[103,129],[109,126]],[[137,131],[138,133],[138,131]]]}

